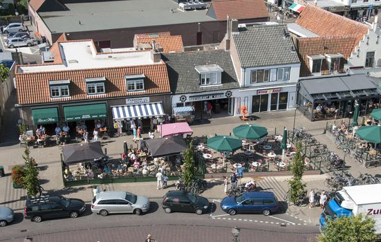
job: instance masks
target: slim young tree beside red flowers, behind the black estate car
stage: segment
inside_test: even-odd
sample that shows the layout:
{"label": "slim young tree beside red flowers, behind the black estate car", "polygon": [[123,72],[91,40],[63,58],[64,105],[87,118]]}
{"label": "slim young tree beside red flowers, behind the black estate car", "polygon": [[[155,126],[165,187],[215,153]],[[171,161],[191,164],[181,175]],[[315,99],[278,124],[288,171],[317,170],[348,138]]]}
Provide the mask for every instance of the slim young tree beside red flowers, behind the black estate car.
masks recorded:
{"label": "slim young tree beside red flowers, behind the black estate car", "polygon": [[36,196],[40,192],[39,171],[35,158],[30,157],[28,147],[25,148],[23,158],[25,160],[25,167],[23,169],[23,183],[21,187],[26,189],[26,194],[28,194],[29,197]]}

